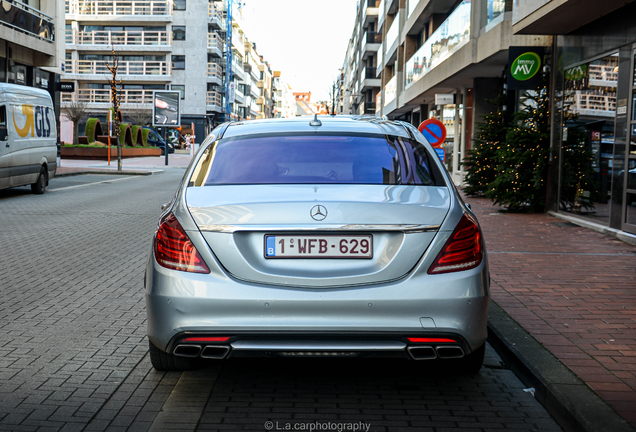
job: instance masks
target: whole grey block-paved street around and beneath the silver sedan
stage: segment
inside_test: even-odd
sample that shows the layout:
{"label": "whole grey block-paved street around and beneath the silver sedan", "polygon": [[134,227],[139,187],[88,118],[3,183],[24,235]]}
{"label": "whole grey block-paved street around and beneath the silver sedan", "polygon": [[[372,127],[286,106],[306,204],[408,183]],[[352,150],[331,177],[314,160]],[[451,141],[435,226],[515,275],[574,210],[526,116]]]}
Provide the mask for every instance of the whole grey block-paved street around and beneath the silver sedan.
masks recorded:
{"label": "whole grey block-paved street around and beneath the silver sedan", "polygon": [[490,347],[475,376],[373,359],[154,371],[143,269],[182,175],[0,191],[0,430],[560,430]]}

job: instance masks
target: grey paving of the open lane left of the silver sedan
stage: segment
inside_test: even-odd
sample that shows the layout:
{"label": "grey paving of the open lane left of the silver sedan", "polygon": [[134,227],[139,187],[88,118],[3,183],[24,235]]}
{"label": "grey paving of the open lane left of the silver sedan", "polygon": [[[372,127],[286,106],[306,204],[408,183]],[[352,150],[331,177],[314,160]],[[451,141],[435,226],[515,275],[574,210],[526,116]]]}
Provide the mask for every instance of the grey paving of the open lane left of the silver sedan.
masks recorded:
{"label": "grey paving of the open lane left of the silver sedan", "polygon": [[0,430],[82,430],[142,359],[143,268],[182,175],[0,191]]}

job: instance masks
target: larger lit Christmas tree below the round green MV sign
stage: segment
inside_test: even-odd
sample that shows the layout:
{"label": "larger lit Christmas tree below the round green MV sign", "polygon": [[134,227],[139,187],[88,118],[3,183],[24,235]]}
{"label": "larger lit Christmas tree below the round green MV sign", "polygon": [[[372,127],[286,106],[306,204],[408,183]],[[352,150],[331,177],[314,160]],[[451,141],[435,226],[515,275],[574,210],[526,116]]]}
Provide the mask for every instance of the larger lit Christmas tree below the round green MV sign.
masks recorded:
{"label": "larger lit Christmas tree below the round green MV sign", "polygon": [[547,86],[527,91],[497,149],[497,175],[486,196],[509,211],[543,211],[550,152]]}

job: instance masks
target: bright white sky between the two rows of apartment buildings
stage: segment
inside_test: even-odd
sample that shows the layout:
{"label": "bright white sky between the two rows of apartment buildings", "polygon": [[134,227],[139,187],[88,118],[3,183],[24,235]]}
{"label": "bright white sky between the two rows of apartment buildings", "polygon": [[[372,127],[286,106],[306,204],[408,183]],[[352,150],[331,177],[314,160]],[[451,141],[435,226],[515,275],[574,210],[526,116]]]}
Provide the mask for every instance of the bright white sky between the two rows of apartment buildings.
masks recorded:
{"label": "bright white sky between the two rows of apartment buildings", "polygon": [[243,6],[243,31],[259,55],[295,92],[331,99],[353,34],[358,0],[234,0]]}

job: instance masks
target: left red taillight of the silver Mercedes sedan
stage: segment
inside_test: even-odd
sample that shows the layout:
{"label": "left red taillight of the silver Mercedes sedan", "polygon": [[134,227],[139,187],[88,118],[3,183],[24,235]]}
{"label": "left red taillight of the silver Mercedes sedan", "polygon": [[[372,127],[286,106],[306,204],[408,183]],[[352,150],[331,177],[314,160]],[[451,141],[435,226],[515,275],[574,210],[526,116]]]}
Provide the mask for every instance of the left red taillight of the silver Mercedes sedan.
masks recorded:
{"label": "left red taillight of the silver Mercedes sedan", "polygon": [[172,213],[159,221],[155,238],[155,259],[163,267],[172,270],[210,273],[210,269]]}

